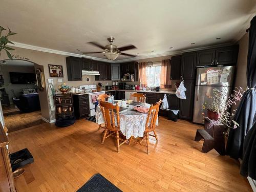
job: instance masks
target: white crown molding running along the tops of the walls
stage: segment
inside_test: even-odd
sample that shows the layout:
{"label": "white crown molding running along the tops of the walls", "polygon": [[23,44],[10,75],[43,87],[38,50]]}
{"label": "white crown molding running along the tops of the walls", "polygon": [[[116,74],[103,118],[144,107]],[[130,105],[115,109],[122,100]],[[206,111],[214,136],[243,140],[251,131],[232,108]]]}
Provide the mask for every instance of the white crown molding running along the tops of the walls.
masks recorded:
{"label": "white crown molding running along the tops of the walls", "polygon": [[[35,50],[35,51],[42,51],[42,52],[47,52],[47,53],[54,53],[54,54],[59,54],[59,55],[67,55],[67,56],[73,56],[73,57],[84,57],[84,58],[89,58],[89,59],[93,59],[93,60],[97,60],[97,61],[103,61],[103,62],[110,62],[110,63],[122,63],[122,62],[127,62],[127,61],[137,61],[137,60],[140,60],[140,59],[147,59],[148,58],[148,55],[141,55],[141,56],[136,56],[136,57],[133,57],[133,58],[111,61],[109,59],[102,59],[102,58],[91,57],[91,56],[82,55],[82,54],[70,53],[70,52],[48,49],[48,48],[38,47],[38,46],[32,46],[32,45],[23,44],[23,43],[20,43],[20,42],[14,42],[13,41],[13,43],[14,43],[14,45],[12,45],[12,44],[8,44],[8,45],[12,46],[12,47],[30,49],[30,50]],[[165,52],[165,53],[160,53],[160,54],[151,54],[151,58],[163,57],[163,56],[174,56],[174,55],[179,55],[179,54],[182,54],[182,53],[185,53],[185,52],[198,51],[198,50],[202,50],[202,49],[217,48],[217,47],[221,47],[221,46],[230,46],[232,44],[233,43],[229,42],[229,43],[218,44],[218,45],[214,45],[214,46],[204,46],[204,47],[193,48],[193,49],[170,51],[170,52]]]}

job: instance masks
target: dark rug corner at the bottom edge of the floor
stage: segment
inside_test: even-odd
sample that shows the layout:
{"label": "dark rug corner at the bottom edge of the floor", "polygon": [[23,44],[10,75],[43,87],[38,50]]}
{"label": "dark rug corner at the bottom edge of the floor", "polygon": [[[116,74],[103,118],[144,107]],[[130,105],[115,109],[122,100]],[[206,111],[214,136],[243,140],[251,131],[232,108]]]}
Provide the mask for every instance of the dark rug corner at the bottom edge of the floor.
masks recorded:
{"label": "dark rug corner at the bottom edge of the floor", "polygon": [[98,173],[92,176],[91,179],[86,182],[86,184],[77,190],[77,192],[87,191],[120,192],[121,190]]}

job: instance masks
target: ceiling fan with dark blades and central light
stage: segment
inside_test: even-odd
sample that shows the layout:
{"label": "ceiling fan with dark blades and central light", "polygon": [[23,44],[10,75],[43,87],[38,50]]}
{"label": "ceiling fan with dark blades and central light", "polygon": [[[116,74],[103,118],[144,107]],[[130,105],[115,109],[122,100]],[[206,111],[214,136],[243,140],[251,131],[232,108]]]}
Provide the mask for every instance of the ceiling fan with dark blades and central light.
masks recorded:
{"label": "ceiling fan with dark blades and central light", "polygon": [[121,51],[127,51],[130,49],[137,49],[134,45],[127,45],[124,47],[119,47],[117,48],[116,45],[113,44],[115,38],[114,37],[109,37],[107,38],[110,44],[106,45],[105,47],[98,44],[95,41],[88,42],[88,44],[91,44],[93,46],[96,46],[100,49],[103,49],[104,51],[98,51],[98,52],[83,52],[83,54],[90,54],[90,53],[105,53],[106,58],[110,60],[115,60],[118,55],[125,55],[125,56],[130,56],[130,57],[135,57],[136,55],[131,55],[127,53],[121,53]]}

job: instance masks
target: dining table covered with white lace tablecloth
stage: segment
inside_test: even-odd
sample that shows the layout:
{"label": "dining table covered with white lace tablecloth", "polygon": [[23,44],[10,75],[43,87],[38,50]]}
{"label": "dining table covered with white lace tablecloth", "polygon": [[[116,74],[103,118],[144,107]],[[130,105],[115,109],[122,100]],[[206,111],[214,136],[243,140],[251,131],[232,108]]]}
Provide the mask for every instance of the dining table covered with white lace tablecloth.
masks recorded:
{"label": "dining table covered with white lace tablecloth", "polygon": [[[115,104],[116,103],[117,102],[115,102]],[[148,103],[140,103],[135,101],[129,104],[126,104],[125,106],[119,106],[120,131],[126,137],[126,139],[130,139],[130,137],[132,136],[135,138],[143,137],[148,113],[141,113],[134,110],[136,106],[141,106],[141,105],[147,108],[150,108],[150,104]],[[116,112],[114,113],[115,113],[114,114],[115,125],[117,126]],[[99,105],[96,108],[95,118],[96,118],[96,123],[98,124],[105,123],[103,113]],[[149,122],[151,122],[151,117]],[[158,126],[158,117],[156,120],[156,125]]]}

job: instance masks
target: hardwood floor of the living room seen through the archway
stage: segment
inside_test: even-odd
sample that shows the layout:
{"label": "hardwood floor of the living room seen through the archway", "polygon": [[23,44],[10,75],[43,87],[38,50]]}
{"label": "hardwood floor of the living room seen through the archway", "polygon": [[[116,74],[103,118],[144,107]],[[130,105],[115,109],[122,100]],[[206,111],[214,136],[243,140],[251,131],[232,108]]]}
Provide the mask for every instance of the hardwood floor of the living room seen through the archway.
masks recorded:
{"label": "hardwood floor of the living room seen through the archway", "polygon": [[22,113],[15,105],[3,106],[3,114],[9,133],[45,123],[41,119],[41,111]]}

